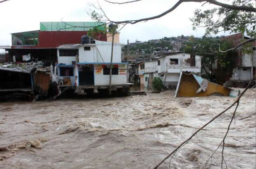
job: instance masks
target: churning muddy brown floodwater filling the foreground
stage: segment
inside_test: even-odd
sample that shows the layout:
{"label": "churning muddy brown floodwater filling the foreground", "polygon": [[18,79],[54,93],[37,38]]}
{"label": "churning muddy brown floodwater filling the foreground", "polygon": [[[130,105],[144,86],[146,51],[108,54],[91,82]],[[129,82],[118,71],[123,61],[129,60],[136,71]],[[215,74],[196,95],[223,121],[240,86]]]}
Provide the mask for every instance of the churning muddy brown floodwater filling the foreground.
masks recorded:
{"label": "churning muddy brown floodwater filling the foreground", "polygon": [[[256,90],[240,100],[226,138],[229,168],[255,168]],[[0,168],[153,168],[235,98],[174,98],[174,91],[119,98],[0,103]],[[231,110],[183,146],[171,168],[203,168]],[[221,149],[210,168],[220,168]],[[225,166],[225,164],[224,164]],[[159,168],[169,168],[166,160]]]}

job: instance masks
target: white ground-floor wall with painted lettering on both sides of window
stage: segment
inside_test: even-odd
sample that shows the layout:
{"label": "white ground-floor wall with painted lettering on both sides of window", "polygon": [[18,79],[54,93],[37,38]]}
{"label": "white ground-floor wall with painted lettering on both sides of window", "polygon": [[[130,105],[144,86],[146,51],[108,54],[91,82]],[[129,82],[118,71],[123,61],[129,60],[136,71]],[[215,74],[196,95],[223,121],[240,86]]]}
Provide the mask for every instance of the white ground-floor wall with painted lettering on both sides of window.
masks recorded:
{"label": "white ground-floor wall with painted lettering on both sides of window", "polygon": [[[126,64],[118,65],[118,75],[112,75],[112,85],[124,85],[127,83],[127,68]],[[101,64],[94,65],[94,85],[109,85],[110,75],[103,75]]]}

